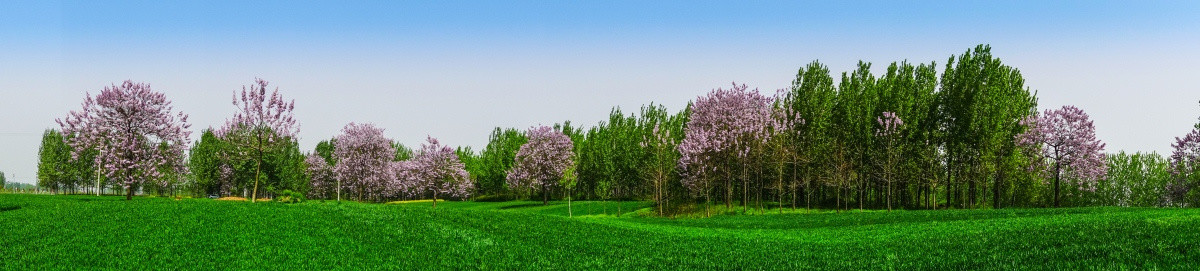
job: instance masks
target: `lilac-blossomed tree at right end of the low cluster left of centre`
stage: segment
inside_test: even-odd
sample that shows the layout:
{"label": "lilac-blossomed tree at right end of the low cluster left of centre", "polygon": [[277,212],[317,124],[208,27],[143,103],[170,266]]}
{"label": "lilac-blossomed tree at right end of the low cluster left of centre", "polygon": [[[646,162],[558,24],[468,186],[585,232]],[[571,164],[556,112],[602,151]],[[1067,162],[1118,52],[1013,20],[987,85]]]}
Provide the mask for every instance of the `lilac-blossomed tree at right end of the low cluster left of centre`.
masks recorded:
{"label": "lilac-blossomed tree at right end of the low cluster left of centre", "polygon": [[407,163],[412,164],[418,187],[433,194],[433,207],[438,206],[439,194],[464,198],[475,187],[458,155],[452,147],[438,143],[437,138],[428,137],[421,151]]}

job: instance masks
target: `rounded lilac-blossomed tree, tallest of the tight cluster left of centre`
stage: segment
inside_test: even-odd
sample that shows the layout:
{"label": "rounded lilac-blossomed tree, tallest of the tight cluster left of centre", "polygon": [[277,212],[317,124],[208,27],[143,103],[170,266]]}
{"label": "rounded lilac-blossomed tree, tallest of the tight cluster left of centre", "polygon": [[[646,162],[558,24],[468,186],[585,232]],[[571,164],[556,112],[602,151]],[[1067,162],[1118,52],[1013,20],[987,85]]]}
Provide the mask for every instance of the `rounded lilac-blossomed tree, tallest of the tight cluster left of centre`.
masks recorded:
{"label": "rounded lilac-blossomed tree, tallest of the tight cluster left of centre", "polygon": [[358,194],[359,200],[370,195],[380,197],[389,192],[395,180],[392,157],[396,150],[383,130],[371,124],[350,122],[337,136],[334,146],[334,175],[337,179],[337,200],[342,200],[342,187]]}

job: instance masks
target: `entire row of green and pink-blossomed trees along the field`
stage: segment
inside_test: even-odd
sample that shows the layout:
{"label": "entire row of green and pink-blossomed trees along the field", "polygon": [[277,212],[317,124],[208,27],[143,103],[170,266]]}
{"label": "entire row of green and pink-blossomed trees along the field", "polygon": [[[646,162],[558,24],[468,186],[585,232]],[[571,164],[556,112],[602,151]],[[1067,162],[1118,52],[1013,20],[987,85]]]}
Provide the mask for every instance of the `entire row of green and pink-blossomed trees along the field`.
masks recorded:
{"label": "entire row of green and pink-blossomed trees along the field", "polygon": [[614,108],[587,128],[496,128],[478,152],[434,138],[410,150],[382,128],[350,124],[302,153],[294,102],[278,89],[268,95],[259,79],[234,96],[234,116],[184,156],[186,115],[149,85],[126,82],[89,96],[61,131],[46,133],[38,180],[127,197],[650,200],[661,215],[709,203],[782,211],[1200,201],[1190,189],[1200,183],[1195,130],[1169,159],[1106,157],[1086,113],[1037,112],[1021,73],[986,46],[952,55],[941,73],[936,62],[892,62],[878,76],[871,66],[835,80],[814,61],[769,96],[733,84],[674,113]]}

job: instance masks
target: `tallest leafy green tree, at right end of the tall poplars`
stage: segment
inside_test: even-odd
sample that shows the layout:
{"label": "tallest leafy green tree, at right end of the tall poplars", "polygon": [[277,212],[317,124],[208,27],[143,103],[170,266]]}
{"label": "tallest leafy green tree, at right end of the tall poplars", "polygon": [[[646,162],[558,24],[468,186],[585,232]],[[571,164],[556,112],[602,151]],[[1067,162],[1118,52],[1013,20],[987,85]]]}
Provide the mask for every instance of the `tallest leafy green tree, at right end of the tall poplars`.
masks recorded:
{"label": "tallest leafy green tree, at right end of the tall poplars", "polygon": [[1020,71],[992,58],[985,44],[952,55],[940,83],[938,133],[954,187],[947,201],[954,195],[960,206],[974,207],[986,186],[979,180],[991,175],[997,192],[992,201],[998,204],[1002,181],[1018,170],[1009,163],[1020,155],[1013,138],[1024,128],[1020,121],[1036,113],[1037,97],[1025,88]]}

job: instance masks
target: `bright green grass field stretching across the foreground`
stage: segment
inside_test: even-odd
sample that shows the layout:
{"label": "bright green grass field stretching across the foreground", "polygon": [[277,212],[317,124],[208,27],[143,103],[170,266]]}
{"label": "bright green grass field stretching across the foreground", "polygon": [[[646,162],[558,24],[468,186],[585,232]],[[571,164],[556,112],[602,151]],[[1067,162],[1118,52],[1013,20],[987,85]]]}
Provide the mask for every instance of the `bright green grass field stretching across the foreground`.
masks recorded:
{"label": "bright green grass field stretching across the foreground", "polygon": [[[1198,209],[638,216],[646,203],[0,194],[0,269],[1200,270]],[[610,215],[604,215],[607,209]],[[641,211],[631,211],[642,209]]]}

